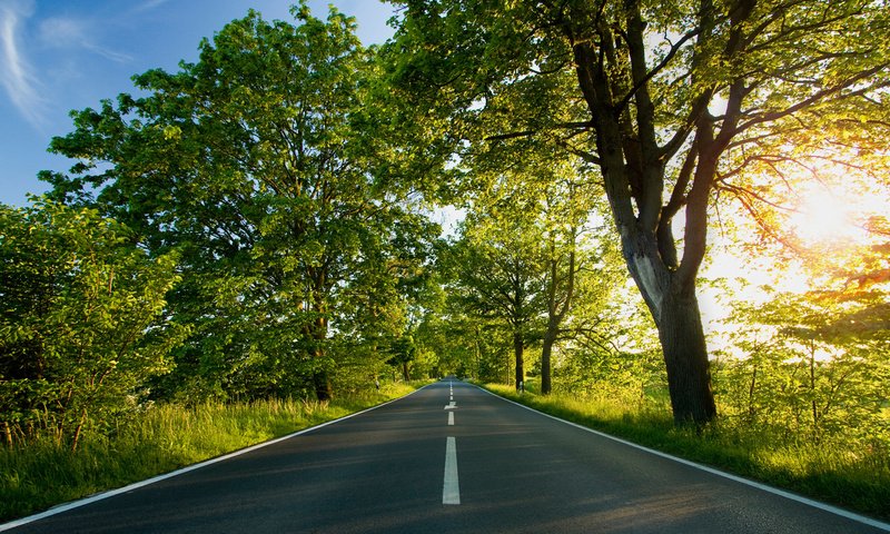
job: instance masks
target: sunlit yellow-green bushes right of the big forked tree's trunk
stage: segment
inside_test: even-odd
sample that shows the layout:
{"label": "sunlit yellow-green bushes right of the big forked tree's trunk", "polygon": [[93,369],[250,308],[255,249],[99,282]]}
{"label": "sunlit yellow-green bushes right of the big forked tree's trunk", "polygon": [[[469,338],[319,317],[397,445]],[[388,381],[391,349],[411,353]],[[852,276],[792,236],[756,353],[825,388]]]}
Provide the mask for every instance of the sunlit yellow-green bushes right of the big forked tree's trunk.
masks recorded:
{"label": "sunlit yellow-green bushes right of the big forked tree's trunk", "polygon": [[740,304],[733,319],[748,326],[734,333],[733,346],[741,354],[728,356],[719,374],[725,415],[784,439],[883,447],[888,329],[851,328],[866,303],[820,291]]}

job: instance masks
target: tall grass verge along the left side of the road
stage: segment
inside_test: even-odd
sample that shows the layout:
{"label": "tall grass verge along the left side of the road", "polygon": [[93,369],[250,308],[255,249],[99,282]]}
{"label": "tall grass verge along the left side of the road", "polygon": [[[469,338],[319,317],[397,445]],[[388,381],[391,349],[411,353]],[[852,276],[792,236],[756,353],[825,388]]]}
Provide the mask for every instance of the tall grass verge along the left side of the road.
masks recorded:
{"label": "tall grass verge along the left side of the road", "polygon": [[107,437],[86,438],[75,453],[51,438],[0,446],[0,522],[344,417],[419,385],[388,384],[332,403],[157,405],[119,423]]}

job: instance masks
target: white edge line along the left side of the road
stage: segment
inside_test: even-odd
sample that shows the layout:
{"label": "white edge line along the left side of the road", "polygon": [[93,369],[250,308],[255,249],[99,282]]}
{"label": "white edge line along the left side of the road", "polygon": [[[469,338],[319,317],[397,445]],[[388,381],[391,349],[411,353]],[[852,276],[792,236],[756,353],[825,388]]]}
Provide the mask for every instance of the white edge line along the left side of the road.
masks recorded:
{"label": "white edge line along the left side of the road", "polygon": [[70,503],[65,503],[65,504],[60,504],[58,506],[53,506],[53,507],[47,510],[46,512],[41,512],[39,514],[29,515],[29,516],[26,516],[26,517],[21,517],[19,520],[10,521],[9,523],[0,524],[0,532],[10,531],[12,528],[17,528],[19,526],[23,526],[23,525],[27,525],[29,523],[33,523],[36,521],[44,520],[47,517],[51,517],[53,515],[58,515],[58,514],[68,512],[70,510],[79,508],[79,507],[86,506],[88,504],[92,504],[92,503],[96,503],[96,502],[99,502],[99,501],[103,501],[106,498],[110,498],[110,497],[120,495],[122,493],[128,493],[128,492],[132,492],[135,490],[139,490],[140,487],[145,487],[145,486],[148,486],[148,485],[151,485],[151,484],[156,484],[158,482],[166,481],[167,478],[172,478],[174,476],[179,476],[179,475],[189,473],[191,471],[197,471],[197,469],[200,469],[201,467],[207,467],[208,465],[212,465],[212,464],[216,464],[216,463],[219,463],[219,462],[225,462],[225,461],[231,459],[231,458],[234,458],[236,456],[240,456],[243,454],[251,453],[254,451],[257,451],[257,449],[263,448],[263,447],[267,447],[269,445],[275,445],[276,443],[284,442],[285,439],[290,439],[291,437],[297,437],[297,436],[300,436],[303,434],[308,434],[308,433],[317,431],[319,428],[324,428],[324,427],[326,427],[328,425],[333,425],[335,423],[339,423],[342,421],[346,421],[346,419],[356,417],[358,415],[366,414],[366,413],[368,413],[368,412],[370,412],[373,409],[382,408],[382,407],[386,406],[387,404],[395,403],[396,400],[402,400],[403,398],[409,397],[411,395],[414,395],[415,393],[417,393],[421,389],[424,389],[426,387],[429,387],[432,384],[427,384],[426,386],[423,386],[423,387],[421,387],[418,389],[415,389],[415,390],[408,393],[407,395],[403,395],[403,396],[400,396],[398,398],[394,398],[394,399],[387,400],[387,402],[385,402],[383,404],[378,404],[376,406],[372,406],[369,408],[365,408],[362,412],[356,412],[354,414],[344,415],[340,418],[332,419],[332,421],[328,421],[326,423],[322,423],[322,424],[318,424],[318,425],[315,425],[315,426],[310,426],[308,428],[304,428],[301,431],[297,431],[297,432],[295,432],[293,434],[288,434],[286,436],[276,437],[274,439],[269,439],[268,442],[258,443],[256,445],[251,445],[249,447],[235,451],[234,453],[228,453],[228,454],[225,454],[222,456],[217,456],[215,458],[205,459],[204,462],[200,462],[200,463],[197,463],[197,464],[192,464],[192,465],[182,467],[182,468],[177,469],[177,471],[171,471],[170,473],[165,473],[162,475],[158,475],[158,476],[155,476],[155,477],[151,477],[151,478],[147,478],[145,481],[140,481],[140,482],[135,482],[135,483],[132,483],[132,484],[130,484],[128,486],[118,487],[117,490],[109,490],[109,491],[102,492],[102,493],[97,493],[96,495],[91,495],[91,496],[86,497],[86,498],[81,498],[81,500],[78,500],[78,501],[71,501]]}

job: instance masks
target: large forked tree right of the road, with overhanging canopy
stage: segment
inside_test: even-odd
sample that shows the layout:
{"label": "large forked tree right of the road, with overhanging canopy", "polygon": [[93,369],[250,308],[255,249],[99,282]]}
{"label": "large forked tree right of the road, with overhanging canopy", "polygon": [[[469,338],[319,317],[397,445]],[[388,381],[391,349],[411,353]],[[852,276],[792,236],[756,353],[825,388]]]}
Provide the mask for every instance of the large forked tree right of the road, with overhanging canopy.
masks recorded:
{"label": "large forked tree right of the road, with overhanging canopy", "polygon": [[674,419],[711,421],[695,289],[713,194],[752,161],[793,159],[804,138],[880,154],[883,2],[396,3],[406,8],[390,47],[396,98],[441,128],[429,137],[453,140],[431,150],[540,138],[599,168],[659,329]]}

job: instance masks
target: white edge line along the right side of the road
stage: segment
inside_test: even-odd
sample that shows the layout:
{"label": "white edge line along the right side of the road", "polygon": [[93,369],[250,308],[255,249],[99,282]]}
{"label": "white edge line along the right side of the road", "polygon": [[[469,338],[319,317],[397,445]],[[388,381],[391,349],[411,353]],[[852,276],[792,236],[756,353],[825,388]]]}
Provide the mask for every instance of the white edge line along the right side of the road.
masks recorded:
{"label": "white edge line along the right side of the road", "polygon": [[613,442],[617,442],[617,443],[621,443],[623,445],[627,445],[629,447],[633,447],[633,448],[636,448],[639,451],[646,452],[649,454],[654,454],[655,456],[661,456],[662,458],[668,458],[668,459],[671,459],[673,462],[676,462],[676,463],[680,463],[680,464],[683,464],[683,465],[688,465],[690,467],[694,467],[694,468],[700,469],[700,471],[704,471],[705,473],[710,473],[712,475],[722,476],[723,478],[729,478],[730,481],[738,482],[738,483],[744,484],[746,486],[755,487],[758,490],[761,490],[761,491],[767,492],[767,493],[771,493],[773,495],[779,495],[781,497],[785,497],[785,498],[789,498],[791,501],[795,501],[798,503],[805,504],[808,506],[812,506],[814,508],[819,508],[821,511],[824,511],[824,512],[828,512],[828,513],[831,513],[831,514],[834,514],[834,515],[840,515],[841,517],[847,517],[848,520],[852,520],[852,521],[862,523],[864,525],[869,525],[869,526],[873,526],[876,528],[880,528],[880,530],[882,530],[884,532],[890,532],[890,523],[884,523],[884,522],[881,522],[881,521],[878,521],[878,520],[872,520],[871,517],[867,517],[864,515],[860,515],[860,514],[857,514],[857,513],[853,513],[853,512],[849,512],[847,510],[839,508],[839,507],[832,506],[830,504],[820,503],[819,501],[813,501],[812,498],[807,498],[807,497],[803,497],[801,495],[797,495],[797,494],[793,494],[791,492],[787,492],[784,490],[779,490],[778,487],[768,486],[767,484],[761,484],[759,482],[750,481],[748,478],[742,478],[741,476],[736,476],[736,475],[732,475],[730,473],[718,471],[718,469],[715,469],[713,467],[708,467],[706,465],[696,464],[695,462],[691,462],[689,459],[683,459],[683,458],[680,458],[678,456],[670,455],[668,453],[662,453],[661,451],[655,451],[654,448],[644,447],[642,445],[637,445],[636,443],[632,443],[632,442],[629,442],[626,439],[622,439],[620,437],[611,436],[611,435],[605,434],[603,432],[594,431],[593,428],[587,428],[584,425],[580,425],[577,423],[572,423],[571,421],[566,421],[566,419],[556,417],[555,415],[545,414],[544,412],[540,412],[540,411],[537,411],[535,408],[532,408],[530,406],[526,406],[524,404],[520,404],[520,403],[517,403],[515,400],[511,400],[508,398],[502,397],[501,395],[492,393],[488,389],[485,389],[484,387],[476,386],[475,384],[471,384],[471,385],[482,389],[483,392],[487,393],[488,395],[492,395],[493,397],[500,398],[501,400],[504,400],[504,402],[510,403],[510,404],[515,404],[516,406],[518,406],[521,408],[525,408],[525,409],[527,409],[530,412],[534,412],[534,413],[536,413],[538,415],[543,415],[544,417],[550,417],[551,419],[558,421],[560,423],[565,423],[566,425],[574,426],[575,428],[580,428],[582,431],[590,432],[591,434],[596,434],[597,436],[605,437],[606,439],[612,439]]}

